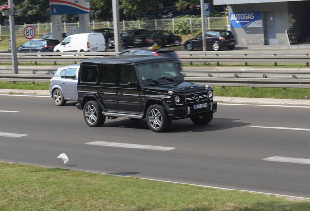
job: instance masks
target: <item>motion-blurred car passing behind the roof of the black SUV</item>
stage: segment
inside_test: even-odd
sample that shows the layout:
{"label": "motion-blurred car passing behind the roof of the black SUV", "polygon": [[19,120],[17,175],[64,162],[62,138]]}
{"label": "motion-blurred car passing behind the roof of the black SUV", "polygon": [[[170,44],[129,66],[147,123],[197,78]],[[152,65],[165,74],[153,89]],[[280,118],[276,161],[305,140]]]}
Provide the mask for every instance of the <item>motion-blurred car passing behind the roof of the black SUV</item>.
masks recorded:
{"label": "motion-blurred car passing behind the roof of the black SUV", "polygon": [[174,62],[181,70],[182,62],[177,53],[172,49],[160,48],[157,45],[151,46],[149,48],[131,48],[124,50],[118,55],[148,55],[148,56],[164,56],[173,58]]}

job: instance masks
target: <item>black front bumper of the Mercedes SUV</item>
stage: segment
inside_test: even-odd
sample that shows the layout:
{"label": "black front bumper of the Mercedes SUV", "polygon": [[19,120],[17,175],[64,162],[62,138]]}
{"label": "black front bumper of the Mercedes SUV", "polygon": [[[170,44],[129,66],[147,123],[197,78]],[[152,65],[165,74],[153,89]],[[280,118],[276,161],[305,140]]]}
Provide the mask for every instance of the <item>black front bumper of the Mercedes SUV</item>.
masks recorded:
{"label": "black front bumper of the Mercedes SUV", "polygon": [[197,116],[199,114],[204,114],[208,112],[215,113],[217,111],[217,102],[212,101],[207,103],[208,106],[203,108],[194,109],[193,105],[177,107],[177,108],[169,108],[168,116],[172,120],[184,119],[192,116]]}

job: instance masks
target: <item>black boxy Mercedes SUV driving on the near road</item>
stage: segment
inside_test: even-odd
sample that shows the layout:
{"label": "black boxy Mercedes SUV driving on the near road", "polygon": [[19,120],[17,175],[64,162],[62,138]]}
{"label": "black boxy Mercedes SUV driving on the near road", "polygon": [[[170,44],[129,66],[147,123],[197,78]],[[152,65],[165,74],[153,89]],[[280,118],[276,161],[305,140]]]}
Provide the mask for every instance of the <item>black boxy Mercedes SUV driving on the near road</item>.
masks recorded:
{"label": "black boxy Mercedes SUV driving on the near road", "polygon": [[208,124],[217,111],[213,89],[184,82],[171,58],[119,55],[81,61],[77,108],[90,127],[106,117],[144,119],[151,130],[163,132],[171,120],[189,117]]}

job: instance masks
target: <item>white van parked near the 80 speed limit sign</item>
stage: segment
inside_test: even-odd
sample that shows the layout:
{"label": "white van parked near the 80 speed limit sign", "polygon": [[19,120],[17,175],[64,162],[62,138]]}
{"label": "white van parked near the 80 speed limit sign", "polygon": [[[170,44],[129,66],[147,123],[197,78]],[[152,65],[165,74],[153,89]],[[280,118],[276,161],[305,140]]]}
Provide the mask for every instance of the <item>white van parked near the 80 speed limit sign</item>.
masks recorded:
{"label": "white van parked near the 80 speed limit sign", "polygon": [[102,33],[73,34],[54,47],[54,52],[103,52],[106,43]]}

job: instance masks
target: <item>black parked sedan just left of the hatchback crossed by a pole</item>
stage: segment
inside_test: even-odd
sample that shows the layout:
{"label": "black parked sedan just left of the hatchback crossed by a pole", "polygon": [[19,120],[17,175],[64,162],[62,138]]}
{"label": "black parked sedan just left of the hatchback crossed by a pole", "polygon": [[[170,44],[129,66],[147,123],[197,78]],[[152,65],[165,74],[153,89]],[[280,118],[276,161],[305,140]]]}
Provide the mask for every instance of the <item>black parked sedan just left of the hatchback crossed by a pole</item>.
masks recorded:
{"label": "black parked sedan just left of the hatchback crossed by a pole", "polygon": [[141,34],[135,39],[134,44],[137,47],[148,47],[152,45],[166,46],[174,44],[179,46],[181,44],[181,37],[174,35],[167,31],[156,30],[156,31],[147,31]]}

